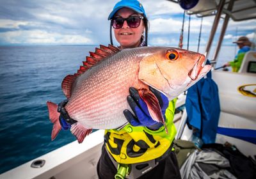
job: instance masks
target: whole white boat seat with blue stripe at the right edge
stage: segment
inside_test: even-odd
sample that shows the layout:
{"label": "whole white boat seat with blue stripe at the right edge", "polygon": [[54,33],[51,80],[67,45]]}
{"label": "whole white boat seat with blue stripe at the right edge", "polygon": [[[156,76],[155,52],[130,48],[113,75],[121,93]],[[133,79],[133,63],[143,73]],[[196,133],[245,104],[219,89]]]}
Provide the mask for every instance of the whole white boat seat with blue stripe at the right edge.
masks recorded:
{"label": "whole white boat seat with blue stripe at the right edge", "polygon": [[239,86],[256,86],[256,74],[214,70],[212,79],[218,84],[221,107],[216,143],[228,141],[244,155],[256,155],[256,97],[237,90]]}

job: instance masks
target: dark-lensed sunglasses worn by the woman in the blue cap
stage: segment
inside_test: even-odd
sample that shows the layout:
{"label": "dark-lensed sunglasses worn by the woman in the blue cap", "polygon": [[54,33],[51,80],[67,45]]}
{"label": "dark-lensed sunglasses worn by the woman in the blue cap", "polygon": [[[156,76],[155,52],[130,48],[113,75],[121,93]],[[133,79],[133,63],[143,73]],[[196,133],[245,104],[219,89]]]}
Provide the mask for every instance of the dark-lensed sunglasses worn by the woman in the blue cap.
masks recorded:
{"label": "dark-lensed sunglasses worn by the woman in the blue cap", "polygon": [[143,19],[143,16],[130,16],[127,18],[122,18],[122,17],[116,17],[115,19],[112,20],[112,26],[115,29],[120,29],[124,25],[124,21],[126,20],[127,24],[131,28],[137,28],[140,26],[140,21]]}

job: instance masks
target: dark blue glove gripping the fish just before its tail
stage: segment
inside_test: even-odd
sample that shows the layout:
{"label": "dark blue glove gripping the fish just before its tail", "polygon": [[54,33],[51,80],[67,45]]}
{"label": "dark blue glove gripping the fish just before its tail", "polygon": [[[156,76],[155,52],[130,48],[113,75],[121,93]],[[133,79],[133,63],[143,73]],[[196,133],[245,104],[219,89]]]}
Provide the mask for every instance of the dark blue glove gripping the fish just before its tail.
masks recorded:
{"label": "dark blue glove gripping the fish just before its tail", "polygon": [[68,100],[63,100],[63,102],[58,104],[58,109],[57,109],[58,113],[60,113],[59,121],[60,121],[61,128],[63,130],[68,130],[71,127],[72,123],[74,123],[74,120],[70,118],[70,116],[68,115],[64,107],[67,104],[67,102]]}

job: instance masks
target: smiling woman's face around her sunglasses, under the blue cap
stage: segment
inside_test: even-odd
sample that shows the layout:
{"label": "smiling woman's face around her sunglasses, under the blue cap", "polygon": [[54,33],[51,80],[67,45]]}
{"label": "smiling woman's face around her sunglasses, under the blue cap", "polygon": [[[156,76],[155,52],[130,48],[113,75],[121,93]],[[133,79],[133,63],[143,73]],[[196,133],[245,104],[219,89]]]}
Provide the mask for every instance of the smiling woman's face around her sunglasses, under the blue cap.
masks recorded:
{"label": "smiling woman's face around her sunglasses, under the blue cap", "polygon": [[[116,12],[115,17],[127,18],[129,16],[139,16],[138,13],[134,12],[129,8],[122,8]],[[141,36],[144,31],[144,23],[141,19],[140,26],[131,28],[128,26],[126,20],[120,29],[114,29],[115,38],[120,43],[122,48],[133,48],[139,47],[141,43]]]}

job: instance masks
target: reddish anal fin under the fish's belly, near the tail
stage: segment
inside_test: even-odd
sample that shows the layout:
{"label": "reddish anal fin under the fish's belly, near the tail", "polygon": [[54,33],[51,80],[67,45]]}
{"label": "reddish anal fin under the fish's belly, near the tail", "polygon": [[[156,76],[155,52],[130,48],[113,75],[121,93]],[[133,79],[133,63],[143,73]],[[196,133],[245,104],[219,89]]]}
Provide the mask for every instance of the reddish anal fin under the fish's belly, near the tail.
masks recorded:
{"label": "reddish anal fin under the fish's belly, near the tail", "polygon": [[78,143],[82,143],[84,138],[92,132],[92,128],[85,128],[81,123],[74,123],[70,128],[71,133],[76,136]]}

